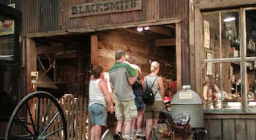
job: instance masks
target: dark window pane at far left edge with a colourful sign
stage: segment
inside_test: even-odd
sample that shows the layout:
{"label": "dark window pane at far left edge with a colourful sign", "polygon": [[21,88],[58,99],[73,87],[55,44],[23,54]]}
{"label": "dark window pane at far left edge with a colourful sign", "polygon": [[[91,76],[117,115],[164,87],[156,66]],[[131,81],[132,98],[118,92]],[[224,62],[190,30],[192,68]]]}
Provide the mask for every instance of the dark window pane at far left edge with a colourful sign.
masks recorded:
{"label": "dark window pane at far left edge with a colourful sign", "polygon": [[0,60],[14,59],[14,20],[0,16]]}

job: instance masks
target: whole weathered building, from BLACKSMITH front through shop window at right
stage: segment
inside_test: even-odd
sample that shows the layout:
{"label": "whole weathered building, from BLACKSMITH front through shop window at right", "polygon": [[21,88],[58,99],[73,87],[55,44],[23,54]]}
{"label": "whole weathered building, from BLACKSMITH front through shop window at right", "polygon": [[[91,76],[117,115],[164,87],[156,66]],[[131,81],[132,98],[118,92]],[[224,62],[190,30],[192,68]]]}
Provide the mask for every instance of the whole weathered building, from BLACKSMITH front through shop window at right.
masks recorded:
{"label": "whole weathered building, from BLACKSMITH front through shop window at right", "polygon": [[[256,138],[254,98],[247,98],[256,85],[255,1],[1,3],[22,12],[19,98],[34,90],[31,71],[39,71],[38,90],[86,98],[91,67],[107,72],[114,52],[125,50],[143,74],[151,61],[159,61],[162,77],[177,81],[178,89],[192,85],[206,106],[207,139]],[[236,20],[223,21],[231,16]]]}

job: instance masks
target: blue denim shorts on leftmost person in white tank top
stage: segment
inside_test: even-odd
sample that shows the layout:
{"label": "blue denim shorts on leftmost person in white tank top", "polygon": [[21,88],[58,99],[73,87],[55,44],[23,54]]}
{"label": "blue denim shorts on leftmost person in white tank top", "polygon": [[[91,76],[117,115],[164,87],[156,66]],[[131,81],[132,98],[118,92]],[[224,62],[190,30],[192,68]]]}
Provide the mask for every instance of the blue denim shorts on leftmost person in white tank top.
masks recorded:
{"label": "blue denim shorts on leftmost person in white tank top", "polygon": [[89,120],[91,125],[105,126],[108,117],[107,107],[102,104],[92,104],[88,107]]}

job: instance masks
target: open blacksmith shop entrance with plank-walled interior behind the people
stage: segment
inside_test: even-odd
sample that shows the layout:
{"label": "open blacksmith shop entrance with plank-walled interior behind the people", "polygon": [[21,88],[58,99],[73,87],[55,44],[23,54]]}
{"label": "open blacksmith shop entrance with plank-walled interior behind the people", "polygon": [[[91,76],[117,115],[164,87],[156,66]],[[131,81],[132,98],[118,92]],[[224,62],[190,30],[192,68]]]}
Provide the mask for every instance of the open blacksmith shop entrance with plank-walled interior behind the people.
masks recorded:
{"label": "open blacksmith shop entrance with plank-walled interior behind the people", "polygon": [[[171,98],[181,85],[179,25],[136,26],[33,38],[38,71],[36,90],[47,90],[57,98],[72,96],[87,100],[91,68],[99,65],[108,72],[115,62],[116,50],[125,50],[127,60],[137,63],[143,76],[150,72],[152,61],[160,63],[159,74],[165,79],[165,95]],[[114,133],[115,117],[108,118],[108,128]]]}

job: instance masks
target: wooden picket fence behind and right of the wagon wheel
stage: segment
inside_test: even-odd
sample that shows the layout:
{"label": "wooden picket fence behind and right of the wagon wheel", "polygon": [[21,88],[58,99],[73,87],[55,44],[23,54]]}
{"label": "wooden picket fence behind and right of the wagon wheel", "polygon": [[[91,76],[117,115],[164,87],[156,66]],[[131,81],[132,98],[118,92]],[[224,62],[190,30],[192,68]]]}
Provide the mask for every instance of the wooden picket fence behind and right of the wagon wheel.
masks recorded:
{"label": "wooden picket fence behind and right of the wagon wheel", "polygon": [[[62,111],[65,114],[67,122],[67,139],[68,140],[82,140],[88,139],[89,120],[87,117],[87,105],[83,98],[62,97],[59,99]],[[48,108],[48,101],[46,99],[41,101],[40,112],[43,114]],[[50,128],[58,128],[60,121],[54,122]],[[53,131],[50,130],[49,131]],[[63,133],[56,133],[50,136],[50,140],[61,139]]]}

